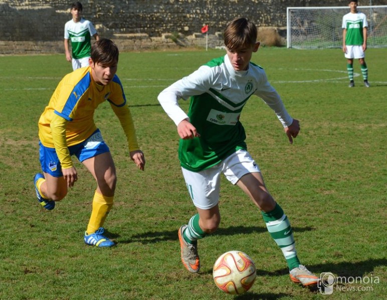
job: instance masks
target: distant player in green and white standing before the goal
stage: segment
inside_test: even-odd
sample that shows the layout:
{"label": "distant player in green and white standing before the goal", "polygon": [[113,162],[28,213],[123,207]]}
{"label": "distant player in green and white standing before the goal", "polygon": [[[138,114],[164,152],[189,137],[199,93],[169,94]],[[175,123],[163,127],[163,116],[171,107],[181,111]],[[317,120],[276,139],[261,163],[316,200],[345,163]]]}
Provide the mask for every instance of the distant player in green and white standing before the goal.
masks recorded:
{"label": "distant player in green and white standing before the goal", "polygon": [[343,52],[347,58],[347,71],[349,87],[354,87],[353,58],[359,59],[364,85],[369,87],[368,68],[365,63],[364,51],[367,49],[367,18],[364,13],[357,10],[357,0],[349,1],[350,12],[343,16]]}

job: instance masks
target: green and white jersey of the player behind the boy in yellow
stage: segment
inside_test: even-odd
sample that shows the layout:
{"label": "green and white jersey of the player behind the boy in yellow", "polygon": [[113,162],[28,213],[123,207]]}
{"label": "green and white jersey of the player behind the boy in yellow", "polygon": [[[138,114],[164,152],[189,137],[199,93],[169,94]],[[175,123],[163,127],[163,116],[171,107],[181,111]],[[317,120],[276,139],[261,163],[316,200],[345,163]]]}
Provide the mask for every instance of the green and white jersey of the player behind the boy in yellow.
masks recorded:
{"label": "green and white jersey of the player behind the boy in yellow", "polygon": [[73,58],[90,56],[91,36],[97,33],[93,23],[81,18],[79,22],[73,19],[65,24],[65,39],[71,40]]}

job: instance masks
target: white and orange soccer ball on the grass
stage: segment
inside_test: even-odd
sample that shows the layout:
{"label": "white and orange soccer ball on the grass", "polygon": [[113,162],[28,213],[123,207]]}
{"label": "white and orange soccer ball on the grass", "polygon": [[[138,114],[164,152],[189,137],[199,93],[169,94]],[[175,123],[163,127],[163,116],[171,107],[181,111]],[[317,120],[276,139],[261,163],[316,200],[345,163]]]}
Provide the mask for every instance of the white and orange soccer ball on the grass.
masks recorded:
{"label": "white and orange soccer ball on the grass", "polygon": [[215,261],[213,276],[215,284],[224,292],[241,294],[253,285],[257,271],[246,253],[228,251]]}

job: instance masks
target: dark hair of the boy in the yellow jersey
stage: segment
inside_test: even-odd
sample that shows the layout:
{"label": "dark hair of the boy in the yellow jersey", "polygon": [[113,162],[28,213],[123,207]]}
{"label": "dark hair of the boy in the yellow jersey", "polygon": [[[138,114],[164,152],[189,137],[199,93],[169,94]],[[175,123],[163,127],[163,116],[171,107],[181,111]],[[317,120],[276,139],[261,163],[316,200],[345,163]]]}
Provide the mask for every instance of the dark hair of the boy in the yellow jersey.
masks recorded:
{"label": "dark hair of the boy in the yellow jersey", "polygon": [[118,62],[118,47],[108,38],[100,38],[91,46],[90,57],[94,63],[114,64]]}

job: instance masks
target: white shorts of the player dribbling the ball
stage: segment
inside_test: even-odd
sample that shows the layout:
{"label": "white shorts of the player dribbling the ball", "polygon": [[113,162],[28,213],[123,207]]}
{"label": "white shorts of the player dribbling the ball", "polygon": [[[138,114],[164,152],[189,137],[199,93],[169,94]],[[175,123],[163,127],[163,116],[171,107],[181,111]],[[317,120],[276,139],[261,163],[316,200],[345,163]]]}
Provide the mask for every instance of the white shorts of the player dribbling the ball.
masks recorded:
{"label": "white shorts of the player dribbling the ball", "polygon": [[217,165],[193,172],[181,167],[185,184],[193,204],[202,209],[210,209],[218,204],[220,174],[233,184],[247,173],[260,172],[258,164],[246,150],[238,150]]}

